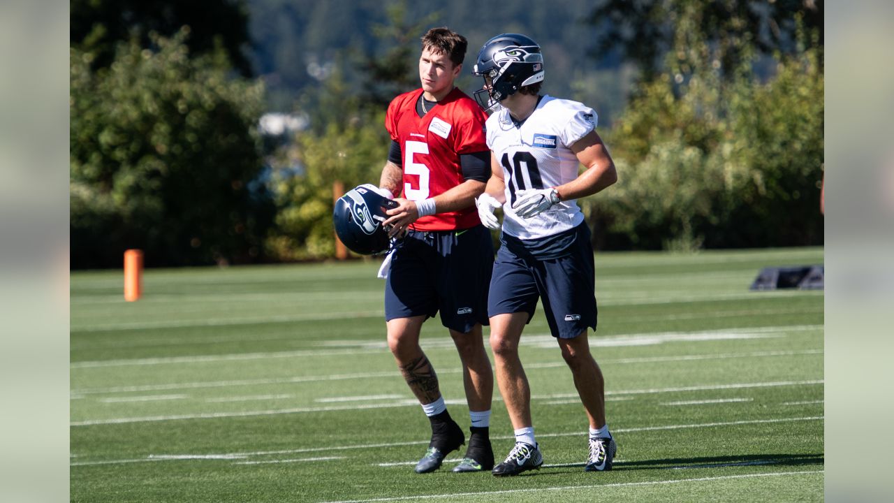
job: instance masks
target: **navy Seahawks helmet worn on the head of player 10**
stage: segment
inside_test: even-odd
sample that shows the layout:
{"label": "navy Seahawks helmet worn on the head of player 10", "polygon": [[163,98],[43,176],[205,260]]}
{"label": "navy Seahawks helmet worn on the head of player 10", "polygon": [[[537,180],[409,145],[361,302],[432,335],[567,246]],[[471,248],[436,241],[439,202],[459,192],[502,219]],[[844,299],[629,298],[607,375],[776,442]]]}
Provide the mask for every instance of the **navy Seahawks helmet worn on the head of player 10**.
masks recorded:
{"label": "navy Seahawks helmet worn on the head of player 10", "polygon": [[481,47],[473,72],[485,78],[485,89],[477,90],[475,99],[490,111],[520,87],[544,80],[544,55],[531,38],[503,33]]}

